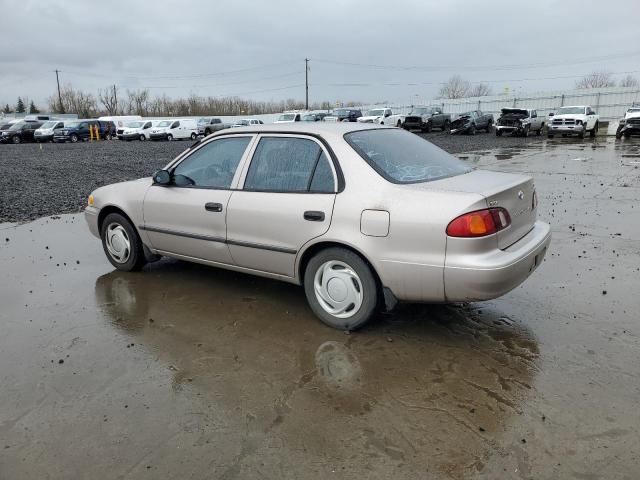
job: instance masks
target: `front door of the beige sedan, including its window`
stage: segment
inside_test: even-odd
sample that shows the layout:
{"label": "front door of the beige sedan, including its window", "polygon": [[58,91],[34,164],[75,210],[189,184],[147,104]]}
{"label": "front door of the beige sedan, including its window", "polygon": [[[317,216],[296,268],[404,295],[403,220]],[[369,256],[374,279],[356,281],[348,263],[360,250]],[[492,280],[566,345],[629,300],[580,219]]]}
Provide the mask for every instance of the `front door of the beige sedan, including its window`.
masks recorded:
{"label": "front door of the beige sedan, including its window", "polygon": [[220,137],[201,145],[170,170],[172,182],[152,185],[141,226],[165,254],[232,264],[226,245],[227,207],[252,135]]}

